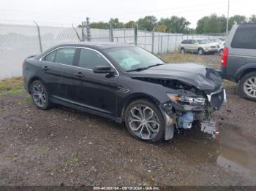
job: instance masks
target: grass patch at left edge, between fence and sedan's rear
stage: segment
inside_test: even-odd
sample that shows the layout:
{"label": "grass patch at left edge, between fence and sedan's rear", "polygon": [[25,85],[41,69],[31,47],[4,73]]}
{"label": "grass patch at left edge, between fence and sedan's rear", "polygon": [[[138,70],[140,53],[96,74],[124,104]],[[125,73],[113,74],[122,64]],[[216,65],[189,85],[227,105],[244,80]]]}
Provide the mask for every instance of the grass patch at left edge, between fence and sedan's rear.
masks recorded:
{"label": "grass patch at left edge, between fence and sedan's rear", "polygon": [[20,93],[24,93],[22,77],[13,77],[0,81],[0,95],[13,95]]}

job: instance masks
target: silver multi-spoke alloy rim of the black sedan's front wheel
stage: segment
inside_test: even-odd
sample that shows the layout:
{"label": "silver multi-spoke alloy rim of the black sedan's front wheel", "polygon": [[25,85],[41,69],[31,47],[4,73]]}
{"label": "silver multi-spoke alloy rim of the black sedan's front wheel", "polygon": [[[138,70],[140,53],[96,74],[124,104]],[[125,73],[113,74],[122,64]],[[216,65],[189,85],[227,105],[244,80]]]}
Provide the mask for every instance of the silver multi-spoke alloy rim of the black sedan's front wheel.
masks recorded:
{"label": "silver multi-spoke alloy rim of the black sedan's front wheel", "polygon": [[129,128],[140,139],[154,139],[159,132],[159,118],[148,106],[137,105],[129,112]]}

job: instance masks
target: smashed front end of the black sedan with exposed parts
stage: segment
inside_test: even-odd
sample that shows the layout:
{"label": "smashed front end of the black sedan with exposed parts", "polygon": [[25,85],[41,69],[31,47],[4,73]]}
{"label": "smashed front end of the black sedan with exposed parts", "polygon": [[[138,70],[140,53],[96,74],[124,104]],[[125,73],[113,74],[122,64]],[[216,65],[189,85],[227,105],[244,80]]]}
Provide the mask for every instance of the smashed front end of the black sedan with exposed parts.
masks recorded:
{"label": "smashed front end of the black sedan with exposed parts", "polygon": [[[220,86],[216,91],[201,90],[199,94],[196,94],[193,88],[195,87],[191,87],[192,91],[180,89],[176,94],[167,93],[170,101],[161,106],[166,117],[166,140],[173,137],[175,129],[179,133],[181,129],[192,128],[192,122],[195,121],[201,123],[203,132],[210,133],[214,138],[219,136],[219,130],[212,125],[210,115],[219,110],[226,101],[225,89]],[[173,123],[171,124],[170,121]],[[211,130],[207,128],[209,126]]]}

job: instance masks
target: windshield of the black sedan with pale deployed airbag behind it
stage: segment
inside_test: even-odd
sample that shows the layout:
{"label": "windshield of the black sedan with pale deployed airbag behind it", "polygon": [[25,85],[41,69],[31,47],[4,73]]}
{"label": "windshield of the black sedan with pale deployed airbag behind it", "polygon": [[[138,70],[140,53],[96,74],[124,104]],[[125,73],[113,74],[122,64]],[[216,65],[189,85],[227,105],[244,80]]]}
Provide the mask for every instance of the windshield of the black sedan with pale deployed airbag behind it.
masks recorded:
{"label": "windshield of the black sedan with pale deployed airbag behind it", "polygon": [[105,50],[125,71],[147,68],[164,63],[157,56],[140,47],[116,47]]}

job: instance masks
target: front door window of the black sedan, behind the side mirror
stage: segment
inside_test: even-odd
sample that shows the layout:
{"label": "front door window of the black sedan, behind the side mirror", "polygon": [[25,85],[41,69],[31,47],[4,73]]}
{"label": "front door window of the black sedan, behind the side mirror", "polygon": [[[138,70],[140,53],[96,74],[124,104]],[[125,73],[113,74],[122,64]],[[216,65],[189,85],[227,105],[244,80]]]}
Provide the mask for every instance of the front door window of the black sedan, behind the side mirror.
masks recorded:
{"label": "front door window of the black sedan, behind the side mirror", "polygon": [[94,69],[95,66],[110,66],[108,61],[94,50],[81,49],[78,66],[84,69]]}

